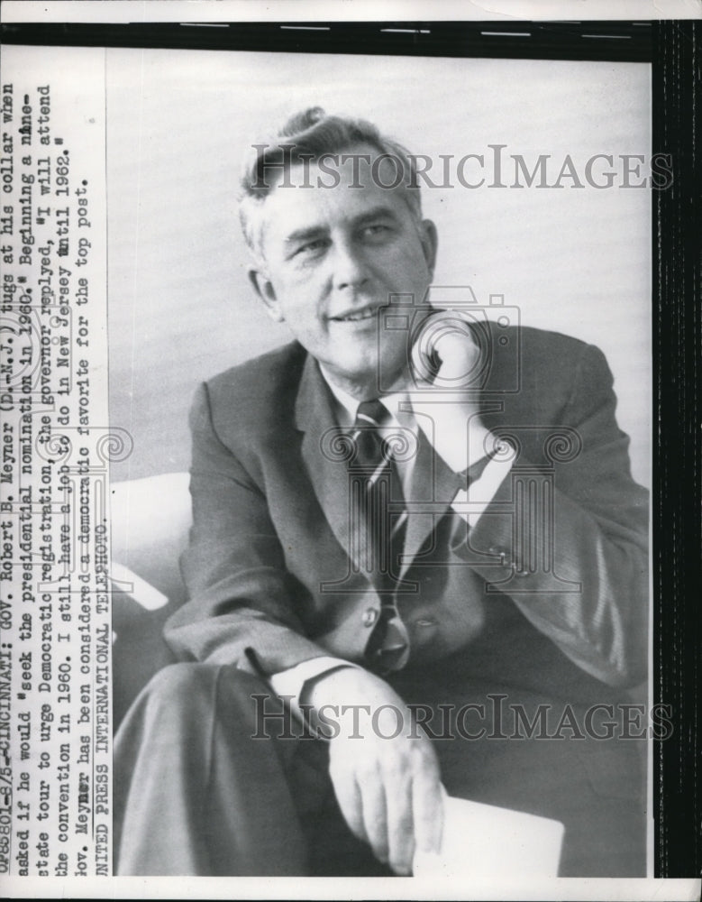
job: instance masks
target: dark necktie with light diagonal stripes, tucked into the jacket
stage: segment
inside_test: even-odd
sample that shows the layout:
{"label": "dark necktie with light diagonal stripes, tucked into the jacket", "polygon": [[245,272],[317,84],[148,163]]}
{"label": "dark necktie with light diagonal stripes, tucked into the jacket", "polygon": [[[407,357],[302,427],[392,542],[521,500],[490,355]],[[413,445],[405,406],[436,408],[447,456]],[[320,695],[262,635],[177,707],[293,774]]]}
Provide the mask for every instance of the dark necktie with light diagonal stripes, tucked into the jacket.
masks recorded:
{"label": "dark necktie with light diagonal stripes, tucked into the jacket", "polygon": [[351,480],[351,512],[360,557],[380,596],[380,616],[366,649],[371,667],[388,673],[405,667],[409,636],[395,600],[407,511],[392,456],[392,428],[383,435],[387,409],[379,400],[363,401],[351,437],[356,448]]}

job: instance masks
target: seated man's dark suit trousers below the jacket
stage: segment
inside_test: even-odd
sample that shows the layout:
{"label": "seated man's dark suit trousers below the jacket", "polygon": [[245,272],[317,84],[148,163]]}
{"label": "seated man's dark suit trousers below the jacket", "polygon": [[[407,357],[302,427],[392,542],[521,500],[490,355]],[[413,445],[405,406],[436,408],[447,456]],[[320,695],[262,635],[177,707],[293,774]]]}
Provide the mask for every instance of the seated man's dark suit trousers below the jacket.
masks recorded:
{"label": "seated man's dark suit trousers below the jacket", "polygon": [[[642,743],[510,740],[492,689],[486,721],[486,687],[432,682],[401,674],[395,687],[410,703],[443,700],[448,719],[430,735],[450,795],[561,820],[560,876],[645,875]],[[343,821],[328,743],[291,723],[265,682],[234,667],[161,670],[115,736],[115,873],[391,876]]]}

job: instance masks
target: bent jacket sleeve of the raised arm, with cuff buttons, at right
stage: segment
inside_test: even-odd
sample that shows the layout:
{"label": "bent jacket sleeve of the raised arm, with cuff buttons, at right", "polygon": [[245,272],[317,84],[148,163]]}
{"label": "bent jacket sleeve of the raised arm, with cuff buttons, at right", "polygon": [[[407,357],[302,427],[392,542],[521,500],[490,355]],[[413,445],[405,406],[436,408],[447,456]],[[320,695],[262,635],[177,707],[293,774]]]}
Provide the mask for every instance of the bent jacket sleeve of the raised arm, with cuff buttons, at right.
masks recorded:
{"label": "bent jacket sleeve of the raised arm, with cuff buttons, at right", "polygon": [[634,686],[647,661],[647,492],[630,474],[604,354],[583,348],[559,418],[567,430],[552,428],[539,464],[517,454],[453,551],[486,581],[488,603],[507,594],[588,674]]}

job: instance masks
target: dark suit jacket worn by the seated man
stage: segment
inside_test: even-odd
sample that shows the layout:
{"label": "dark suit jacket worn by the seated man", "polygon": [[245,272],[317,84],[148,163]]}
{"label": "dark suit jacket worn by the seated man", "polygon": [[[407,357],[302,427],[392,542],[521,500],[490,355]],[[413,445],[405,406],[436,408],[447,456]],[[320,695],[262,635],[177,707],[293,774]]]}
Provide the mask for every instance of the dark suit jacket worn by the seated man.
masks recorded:
{"label": "dark suit jacket worn by the seated man", "polygon": [[[648,620],[646,493],[612,377],[592,345],[525,327],[500,344],[486,329],[484,421],[518,456],[467,532],[444,517],[456,475],[420,442],[398,594],[410,667],[464,653],[487,682],[606,701],[605,686],[645,676]],[[264,674],[362,660],[380,601],[349,553],[347,469],[322,441],[332,411],[296,343],[197,391],[190,601],[166,630],[180,657]]]}

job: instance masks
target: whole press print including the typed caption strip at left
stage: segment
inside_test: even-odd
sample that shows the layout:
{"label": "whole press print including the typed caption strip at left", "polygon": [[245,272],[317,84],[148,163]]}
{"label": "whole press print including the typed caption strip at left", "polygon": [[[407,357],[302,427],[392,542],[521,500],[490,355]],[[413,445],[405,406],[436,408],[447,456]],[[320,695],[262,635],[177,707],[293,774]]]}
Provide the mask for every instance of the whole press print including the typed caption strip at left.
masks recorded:
{"label": "whole press print including the typed caption strip at left", "polygon": [[114,25],[43,80],[11,48],[2,511],[45,546],[0,612],[7,873],[694,876],[657,827],[652,23],[539,53],[526,18]]}

